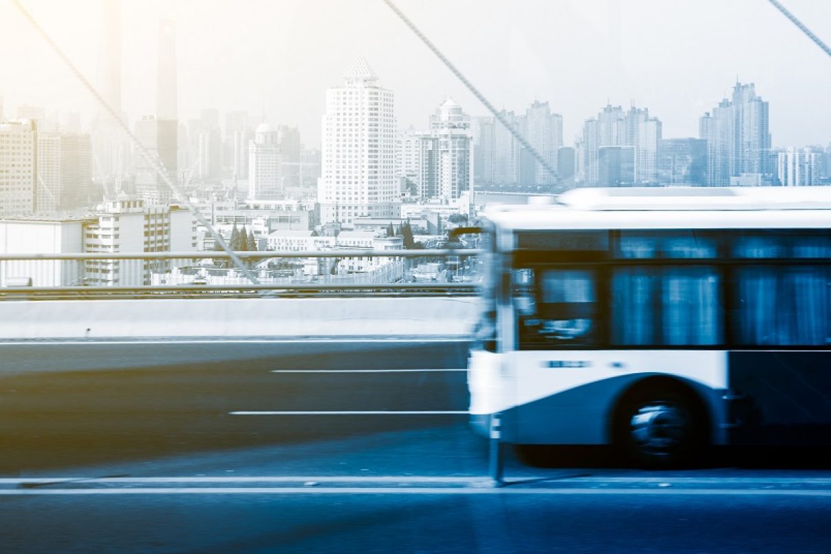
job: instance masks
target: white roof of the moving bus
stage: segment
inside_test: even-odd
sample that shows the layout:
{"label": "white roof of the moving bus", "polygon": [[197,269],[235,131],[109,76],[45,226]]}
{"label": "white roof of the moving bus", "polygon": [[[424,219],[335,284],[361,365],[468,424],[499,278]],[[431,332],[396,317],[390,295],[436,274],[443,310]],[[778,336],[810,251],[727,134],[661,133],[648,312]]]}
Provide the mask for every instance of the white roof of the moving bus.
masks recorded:
{"label": "white roof of the moving bus", "polygon": [[573,189],[553,205],[494,205],[515,230],[786,229],[831,227],[831,186]]}

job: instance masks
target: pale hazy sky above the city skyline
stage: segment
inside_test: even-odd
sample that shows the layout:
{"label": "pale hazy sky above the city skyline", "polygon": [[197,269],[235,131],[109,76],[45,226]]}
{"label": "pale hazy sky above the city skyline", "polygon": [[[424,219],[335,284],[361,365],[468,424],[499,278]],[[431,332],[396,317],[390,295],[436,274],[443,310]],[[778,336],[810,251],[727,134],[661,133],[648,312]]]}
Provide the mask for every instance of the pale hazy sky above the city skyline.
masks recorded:
{"label": "pale hazy sky above the city skyline", "polygon": [[[23,2],[93,80],[101,1],[113,0]],[[782,1],[831,42],[831,2]],[[665,137],[697,136],[698,117],[736,77],[770,101],[774,146],[831,141],[831,58],[766,0],[396,3],[494,105],[524,111],[549,101],[567,143],[607,100],[647,106]],[[177,26],[183,118],[204,107],[264,111],[315,145],[326,89],[359,54],[396,93],[402,127],[425,126],[445,96],[485,114],[381,0],[122,0],[122,16],[122,97],[133,119],[155,111],[159,17]],[[89,95],[11,2],[0,2],[0,67],[7,117],[19,104],[92,113]]]}

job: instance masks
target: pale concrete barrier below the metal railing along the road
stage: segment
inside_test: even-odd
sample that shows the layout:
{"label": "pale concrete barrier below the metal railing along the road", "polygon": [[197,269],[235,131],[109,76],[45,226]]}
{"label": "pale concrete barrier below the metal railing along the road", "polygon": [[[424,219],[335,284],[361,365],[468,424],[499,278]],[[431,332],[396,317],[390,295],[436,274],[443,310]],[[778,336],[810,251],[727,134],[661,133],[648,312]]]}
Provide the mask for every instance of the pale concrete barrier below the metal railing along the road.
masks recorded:
{"label": "pale concrete barrier below the metal railing along the road", "polygon": [[448,338],[470,336],[475,297],[0,302],[0,340]]}

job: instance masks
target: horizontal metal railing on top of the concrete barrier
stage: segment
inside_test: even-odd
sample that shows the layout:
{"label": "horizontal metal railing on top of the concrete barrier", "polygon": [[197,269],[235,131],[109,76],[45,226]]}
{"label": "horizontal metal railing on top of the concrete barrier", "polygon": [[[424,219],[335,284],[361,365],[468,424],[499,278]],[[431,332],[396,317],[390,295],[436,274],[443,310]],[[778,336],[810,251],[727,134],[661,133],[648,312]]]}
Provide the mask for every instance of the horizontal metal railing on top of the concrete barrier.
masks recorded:
{"label": "horizontal metal railing on top of the concrete barrier", "polygon": [[[0,300],[478,294],[481,250],[0,255]],[[256,275],[252,284],[247,273]]]}

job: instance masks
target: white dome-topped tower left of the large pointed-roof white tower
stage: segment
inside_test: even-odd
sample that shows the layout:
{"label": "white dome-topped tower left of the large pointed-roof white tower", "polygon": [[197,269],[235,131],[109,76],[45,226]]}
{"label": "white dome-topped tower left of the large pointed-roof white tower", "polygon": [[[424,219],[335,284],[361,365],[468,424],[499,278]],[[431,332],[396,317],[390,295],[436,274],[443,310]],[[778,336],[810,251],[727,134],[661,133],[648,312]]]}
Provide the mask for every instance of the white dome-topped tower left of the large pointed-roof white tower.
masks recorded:
{"label": "white dome-topped tower left of the large pointed-roof white tower", "polygon": [[278,200],[282,195],[280,132],[263,121],[248,143],[248,199]]}

